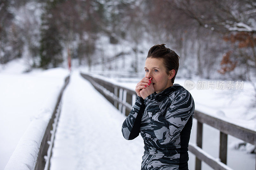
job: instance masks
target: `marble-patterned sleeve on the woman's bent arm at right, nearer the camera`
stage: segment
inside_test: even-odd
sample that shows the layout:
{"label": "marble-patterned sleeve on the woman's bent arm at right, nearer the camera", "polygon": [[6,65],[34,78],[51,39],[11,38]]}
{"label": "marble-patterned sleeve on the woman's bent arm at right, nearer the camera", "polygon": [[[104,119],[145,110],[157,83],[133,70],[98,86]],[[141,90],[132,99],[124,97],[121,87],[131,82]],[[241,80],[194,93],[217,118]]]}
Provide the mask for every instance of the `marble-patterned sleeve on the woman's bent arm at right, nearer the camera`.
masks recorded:
{"label": "marble-patterned sleeve on the woman's bent arm at right, nearer the camera", "polygon": [[188,118],[195,110],[194,100],[185,89],[177,91],[165,116],[161,113],[154,93],[145,98],[145,105],[151,127],[160,144],[174,144],[180,137],[180,132],[188,122]]}

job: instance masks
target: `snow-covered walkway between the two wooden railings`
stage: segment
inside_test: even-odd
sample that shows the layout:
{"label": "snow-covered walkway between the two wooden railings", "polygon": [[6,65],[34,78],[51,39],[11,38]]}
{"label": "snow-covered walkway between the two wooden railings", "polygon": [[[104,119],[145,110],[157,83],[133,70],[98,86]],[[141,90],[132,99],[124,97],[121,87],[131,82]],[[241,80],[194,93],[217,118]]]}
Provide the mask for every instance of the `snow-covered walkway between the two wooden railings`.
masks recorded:
{"label": "snow-covered walkway between the two wooden railings", "polygon": [[63,93],[51,170],[140,169],[141,136],[122,136],[122,115],[78,71]]}

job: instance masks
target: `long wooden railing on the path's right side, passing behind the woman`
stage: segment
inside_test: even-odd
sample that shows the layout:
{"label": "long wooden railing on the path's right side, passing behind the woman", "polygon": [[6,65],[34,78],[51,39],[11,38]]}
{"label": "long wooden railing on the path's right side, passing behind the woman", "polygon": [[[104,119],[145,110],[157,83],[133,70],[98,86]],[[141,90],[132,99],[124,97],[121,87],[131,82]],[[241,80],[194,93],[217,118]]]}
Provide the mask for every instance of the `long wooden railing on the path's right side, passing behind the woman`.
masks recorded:
{"label": "long wooden railing on the path's right side, passing behind the woman", "polygon": [[[136,92],[119,85],[104,81],[100,78],[94,78],[89,74],[81,73],[81,76],[89,80],[92,85],[105,96],[116,108],[126,116],[129,115],[136,99]],[[256,131],[226,122],[216,117],[204,114],[195,110],[194,118],[197,120],[196,144],[188,144],[189,152],[196,156],[195,169],[201,170],[201,161],[213,169],[230,170],[227,164],[227,138],[228,135],[237,137],[247,143],[256,145]],[[220,161],[213,158],[202,150],[203,123],[220,130]],[[256,166],[255,166],[256,167]]]}

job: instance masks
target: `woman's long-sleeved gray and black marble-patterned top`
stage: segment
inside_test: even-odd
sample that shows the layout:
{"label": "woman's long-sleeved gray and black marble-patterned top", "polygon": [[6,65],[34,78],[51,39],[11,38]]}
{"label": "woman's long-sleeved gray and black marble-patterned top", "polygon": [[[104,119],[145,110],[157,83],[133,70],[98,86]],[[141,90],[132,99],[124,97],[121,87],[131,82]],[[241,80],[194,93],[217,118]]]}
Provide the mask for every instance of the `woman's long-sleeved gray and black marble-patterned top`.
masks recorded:
{"label": "woman's long-sleeved gray and black marble-patterned top", "polygon": [[142,164],[150,162],[146,160],[149,159],[146,154],[163,155],[168,158],[164,160],[166,164],[188,162],[194,110],[191,94],[179,84],[160,93],[152,93],[145,100],[137,96],[130,114],[124,120],[123,136],[132,140],[141,135],[145,144]]}

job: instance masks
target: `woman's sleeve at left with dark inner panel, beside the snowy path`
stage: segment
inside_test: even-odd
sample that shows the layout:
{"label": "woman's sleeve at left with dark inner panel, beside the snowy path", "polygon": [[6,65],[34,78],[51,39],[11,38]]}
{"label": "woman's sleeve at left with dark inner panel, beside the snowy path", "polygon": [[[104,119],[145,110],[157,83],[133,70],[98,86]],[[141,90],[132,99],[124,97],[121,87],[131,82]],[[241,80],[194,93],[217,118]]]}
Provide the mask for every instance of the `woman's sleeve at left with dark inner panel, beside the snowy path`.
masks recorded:
{"label": "woman's sleeve at left with dark inner panel, beside the snowy path", "polygon": [[142,114],[145,111],[145,104],[142,97],[137,96],[130,114],[124,120],[122,133],[125,139],[132,140],[140,134],[140,123]]}

